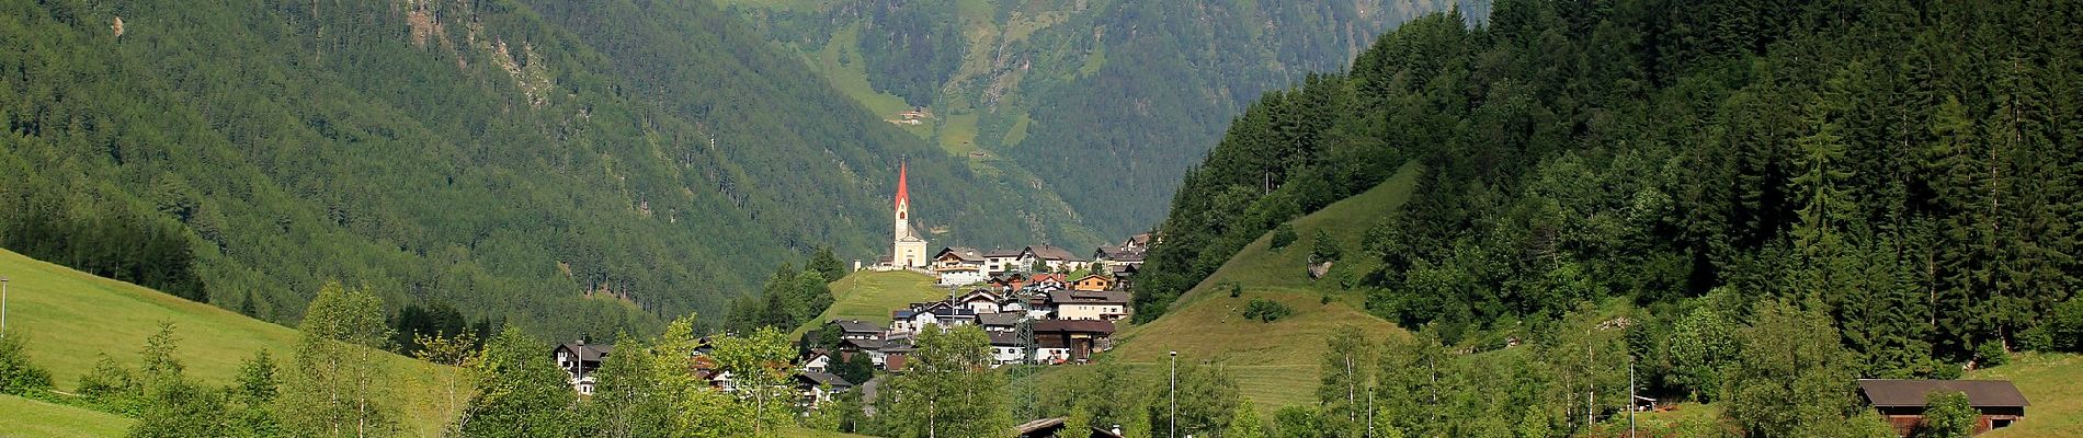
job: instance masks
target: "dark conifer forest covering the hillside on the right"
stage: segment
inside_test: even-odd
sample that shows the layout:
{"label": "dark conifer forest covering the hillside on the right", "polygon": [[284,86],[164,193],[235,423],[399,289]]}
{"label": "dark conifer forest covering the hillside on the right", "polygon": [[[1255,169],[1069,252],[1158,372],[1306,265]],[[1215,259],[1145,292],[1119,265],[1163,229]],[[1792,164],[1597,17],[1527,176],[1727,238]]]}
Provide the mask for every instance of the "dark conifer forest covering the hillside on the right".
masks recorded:
{"label": "dark conifer forest covering the hillside on the right", "polygon": [[1446,349],[1554,345],[1604,318],[1654,394],[1693,401],[1743,394],[1731,334],[1773,324],[1825,330],[1841,349],[1816,355],[1841,351],[1846,380],[2077,351],[2079,25],[2077,2],[1425,17],[1231,125],[1173,199],[1135,318],[1419,162],[1412,201],[1346,255],[1381,268],[1341,293]]}

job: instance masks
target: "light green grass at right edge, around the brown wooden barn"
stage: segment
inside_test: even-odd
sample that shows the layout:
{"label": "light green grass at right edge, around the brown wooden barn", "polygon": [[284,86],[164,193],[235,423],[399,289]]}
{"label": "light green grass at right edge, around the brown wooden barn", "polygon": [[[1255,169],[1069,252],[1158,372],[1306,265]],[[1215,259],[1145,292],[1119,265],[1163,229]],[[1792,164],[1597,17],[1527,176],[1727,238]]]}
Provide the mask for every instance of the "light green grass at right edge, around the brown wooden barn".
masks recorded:
{"label": "light green grass at right edge, around the brown wooden barn", "polygon": [[1983,438],[2083,436],[2083,355],[2025,353],[2000,367],[1966,374],[1975,380],[2010,380],[2025,392],[2025,419]]}

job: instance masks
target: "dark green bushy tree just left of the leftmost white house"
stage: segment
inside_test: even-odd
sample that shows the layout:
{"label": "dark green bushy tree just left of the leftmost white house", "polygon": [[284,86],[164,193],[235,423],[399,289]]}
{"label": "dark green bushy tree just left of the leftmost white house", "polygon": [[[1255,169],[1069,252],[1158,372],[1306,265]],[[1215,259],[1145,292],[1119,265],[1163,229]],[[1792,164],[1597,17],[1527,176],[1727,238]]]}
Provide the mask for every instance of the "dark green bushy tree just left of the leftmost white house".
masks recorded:
{"label": "dark green bushy tree just left of the leftmost white house", "polygon": [[577,399],[564,372],[544,361],[546,343],[517,328],[492,336],[471,369],[477,394],[462,411],[458,436],[571,436]]}

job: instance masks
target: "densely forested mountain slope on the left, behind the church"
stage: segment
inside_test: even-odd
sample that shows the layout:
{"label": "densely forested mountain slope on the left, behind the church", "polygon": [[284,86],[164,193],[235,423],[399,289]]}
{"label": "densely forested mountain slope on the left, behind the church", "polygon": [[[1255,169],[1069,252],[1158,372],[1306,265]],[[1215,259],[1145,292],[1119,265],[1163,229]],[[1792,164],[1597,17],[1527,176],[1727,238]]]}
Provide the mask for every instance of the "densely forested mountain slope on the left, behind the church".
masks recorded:
{"label": "densely forested mountain slope on the left, behind the church", "polygon": [[931,239],[1089,239],[708,4],[539,6],[0,4],[0,245],[277,322],[342,280],[575,336],[873,259],[906,156]]}

